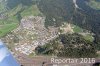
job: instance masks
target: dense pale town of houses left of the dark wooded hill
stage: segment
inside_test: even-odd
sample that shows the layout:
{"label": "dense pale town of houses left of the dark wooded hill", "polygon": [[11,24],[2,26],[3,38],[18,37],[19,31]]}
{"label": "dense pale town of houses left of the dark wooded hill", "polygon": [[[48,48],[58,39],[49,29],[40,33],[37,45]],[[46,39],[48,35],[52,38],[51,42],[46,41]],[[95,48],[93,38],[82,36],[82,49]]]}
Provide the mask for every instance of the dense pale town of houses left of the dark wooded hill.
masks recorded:
{"label": "dense pale town of houses left of the dark wooded hill", "polygon": [[[34,50],[39,45],[44,45],[58,36],[58,28],[44,26],[45,18],[40,16],[24,17],[18,28],[6,36],[8,45],[14,43],[13,50],[25,55],[35,54]],[[10,48],[12,49],[12,48]]]}

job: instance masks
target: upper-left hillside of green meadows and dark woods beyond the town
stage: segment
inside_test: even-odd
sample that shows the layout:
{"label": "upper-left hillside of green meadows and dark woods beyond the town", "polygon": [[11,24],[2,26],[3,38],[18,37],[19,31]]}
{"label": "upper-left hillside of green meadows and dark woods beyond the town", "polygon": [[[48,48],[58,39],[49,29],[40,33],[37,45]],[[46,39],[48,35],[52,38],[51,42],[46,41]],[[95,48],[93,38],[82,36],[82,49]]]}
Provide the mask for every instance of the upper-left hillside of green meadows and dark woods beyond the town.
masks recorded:
{"label": "upper-left hillside of green meadows and dark woods beyond the town", "polygon": [[1,0],[0,37],[5,36],[18,27],[23,17],[41,15],[36,4],[37,1],[35,0]]}

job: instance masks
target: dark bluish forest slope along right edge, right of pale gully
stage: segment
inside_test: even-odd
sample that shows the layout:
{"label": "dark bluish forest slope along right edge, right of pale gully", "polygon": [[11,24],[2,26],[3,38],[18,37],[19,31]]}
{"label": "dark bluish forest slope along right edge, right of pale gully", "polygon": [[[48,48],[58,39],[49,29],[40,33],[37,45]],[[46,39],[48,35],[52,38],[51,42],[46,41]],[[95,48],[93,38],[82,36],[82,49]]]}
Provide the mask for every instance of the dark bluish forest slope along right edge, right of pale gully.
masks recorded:
{"label": "dark bluish forest slope along right edge, right of pale gully", "polygon": [[[91,1],[91,0],[88,0]],[[96,0],[95,0],[96,1]],[[89,30],[95,34],[94,43],[98,51],[100,50],[100,11],[91,8],[86,4],[86,0],[77,0],[81,9],[77,9],[73,16],[73,24]]]}

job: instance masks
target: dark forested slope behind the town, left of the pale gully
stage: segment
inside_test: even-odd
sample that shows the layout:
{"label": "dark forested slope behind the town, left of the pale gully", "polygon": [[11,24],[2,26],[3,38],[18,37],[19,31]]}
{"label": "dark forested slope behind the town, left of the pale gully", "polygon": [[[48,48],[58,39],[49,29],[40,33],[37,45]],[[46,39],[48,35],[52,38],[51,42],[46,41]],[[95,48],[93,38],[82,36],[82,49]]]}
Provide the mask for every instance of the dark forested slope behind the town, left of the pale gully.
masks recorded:
{"label": "dark forested slope behind the town, left of the pale gully", "polygon": [[74,11],[73,0],[41,0],[39,10],[46,16],[45,25],[61,26],[71,19]]}

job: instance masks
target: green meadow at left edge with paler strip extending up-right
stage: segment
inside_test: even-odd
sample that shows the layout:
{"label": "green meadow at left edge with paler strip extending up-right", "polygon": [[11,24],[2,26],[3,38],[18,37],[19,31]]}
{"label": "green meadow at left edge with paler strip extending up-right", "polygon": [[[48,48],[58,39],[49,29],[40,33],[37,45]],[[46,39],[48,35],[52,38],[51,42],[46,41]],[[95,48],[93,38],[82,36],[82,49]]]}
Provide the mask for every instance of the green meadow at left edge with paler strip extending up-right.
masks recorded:
{"label": "green meadow at left edge with paler strip extending up-right", "polygon": [[[0,19],[0,37],[5,36],[7,33],[11,32],[13,29],[15,29],[19,21],[15,14],[20,11],[21,6],[16,6],[14,9],[6,11],[4,14],[7,15],[7,18]],[[0,10],[2,11],[2,10]]]}

